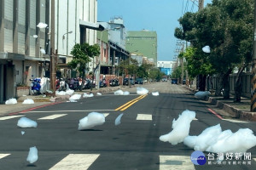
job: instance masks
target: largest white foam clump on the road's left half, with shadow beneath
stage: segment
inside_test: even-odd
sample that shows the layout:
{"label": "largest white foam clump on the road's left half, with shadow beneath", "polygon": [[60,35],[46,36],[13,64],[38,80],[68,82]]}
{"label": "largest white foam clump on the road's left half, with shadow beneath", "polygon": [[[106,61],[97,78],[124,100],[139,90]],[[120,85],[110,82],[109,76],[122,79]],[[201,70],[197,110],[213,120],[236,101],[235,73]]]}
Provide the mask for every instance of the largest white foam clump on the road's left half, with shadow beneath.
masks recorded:
{"label": "largest white foam clump on the road's left half, with shadow beneath", "polygon": [[79,130],[89,129],[91,127],[102,125],[105,122],[105,116],[102,113],[90,112],[88,116],[79,120]]}

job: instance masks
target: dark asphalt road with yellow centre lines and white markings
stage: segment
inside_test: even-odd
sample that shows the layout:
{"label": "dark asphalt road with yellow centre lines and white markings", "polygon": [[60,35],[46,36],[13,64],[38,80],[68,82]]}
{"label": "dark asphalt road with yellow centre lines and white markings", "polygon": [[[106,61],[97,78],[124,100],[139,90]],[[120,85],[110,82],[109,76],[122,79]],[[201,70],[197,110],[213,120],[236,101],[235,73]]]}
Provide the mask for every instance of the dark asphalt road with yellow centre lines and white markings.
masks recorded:
{"label": "dark asphalt road with yellow centre lines and white markings", "polygon": [[[0,169],[256,169],[256,160],[253,160],[256,147],[247,150],[252,154],[251,165],[242,165],[242,161],[241,165],[233,165],[234,160],[231,165],[228,161],[226,165],[214,164],[215,156],[212,165],[207,162],[195,166],[190,161],[194,150],[183,143],[172,145],[159,139],[160,135],[171,132],[172,120],[187,109],[195,111],[197,119],[191,122],[189,135],[199,135],[218,123],[223,130],[236,132],[248,127],[256,134],[255,122],[221,120],[208,110],[211,106],[206,102],[170,82],[147,84],[143,88],[150,93],[158,91],[160,95],[140,97],[136,88],[127,88],[131,95],[102,94],[76,103],[49,105],[6,120],[0,117]],[[132,99],[136,100],[125,105]],[[120,111],[122,105],[124,111]],[[92,111],[103,113],[106,122],[79,131],[79,120]],[[124,113],[121,124],[115,126],[115,118],[120,113]],[[38,122],[38,127],[17,127],[20,116]],[[21,135],[21,131],[25,134]],[[38,161],[29,164],[26,157],[32,146],[38,148]],[[207,157],[208,153],[204,153]]]}

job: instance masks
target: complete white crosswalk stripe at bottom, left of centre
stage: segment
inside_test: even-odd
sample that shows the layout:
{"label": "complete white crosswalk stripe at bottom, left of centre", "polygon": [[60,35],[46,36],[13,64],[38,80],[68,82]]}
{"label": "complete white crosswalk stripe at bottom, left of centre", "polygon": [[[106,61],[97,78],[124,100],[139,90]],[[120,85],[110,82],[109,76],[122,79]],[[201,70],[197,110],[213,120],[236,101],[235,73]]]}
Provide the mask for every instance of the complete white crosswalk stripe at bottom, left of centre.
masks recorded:
{"label": "complete white crosswalk stripe at bottom, left of centre", "polygon": [[86,170],[100,154],[69,154],[50,170]]}

